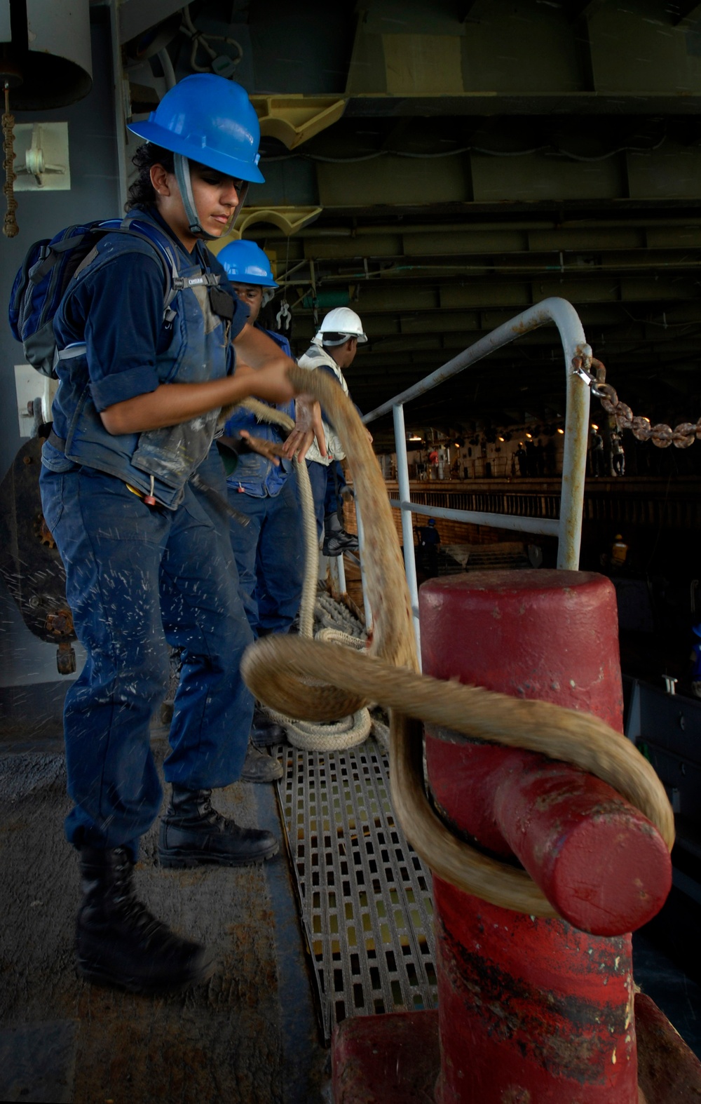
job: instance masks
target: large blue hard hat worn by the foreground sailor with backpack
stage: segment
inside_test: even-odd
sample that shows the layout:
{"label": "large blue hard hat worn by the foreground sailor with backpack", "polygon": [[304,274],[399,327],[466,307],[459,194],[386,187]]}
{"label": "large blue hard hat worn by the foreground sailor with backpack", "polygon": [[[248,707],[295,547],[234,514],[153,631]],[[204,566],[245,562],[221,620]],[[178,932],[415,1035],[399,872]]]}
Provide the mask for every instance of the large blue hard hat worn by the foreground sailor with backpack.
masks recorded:
{"label": "large blue hard hat worn by the foreground sailor with backpack", "polygon": [[214,73],[194,73],[170,88],[155,112],[129,130],[234,180],[262,184],[261,127],[245,88]]}

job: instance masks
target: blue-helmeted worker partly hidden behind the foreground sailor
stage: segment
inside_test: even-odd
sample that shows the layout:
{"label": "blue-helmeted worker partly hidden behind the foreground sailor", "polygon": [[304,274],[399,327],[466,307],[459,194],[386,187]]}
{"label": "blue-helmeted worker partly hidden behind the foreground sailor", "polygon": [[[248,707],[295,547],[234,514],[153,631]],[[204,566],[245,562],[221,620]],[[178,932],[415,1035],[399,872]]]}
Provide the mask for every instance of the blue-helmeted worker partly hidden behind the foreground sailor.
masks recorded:
{"label": "blue-helmeted worker partly hidden behind the foreground sailor", "polygon": [[[257,321],[278,286],[263,250],[255,242],[232,242],[220,251],[217,261],[237,297],[248,307],[249,323],[275,341],[287,357],[291,355],[287,338],[264,329]],[[294,403],[278,404],[277,410],[294,418]],[[267,455],[246,449],[246,438],[254,434],[269,442]],[[238,454],[236,467],[226,479],[229,500],[248,518],[247,526],[232,519],[230,527],[246,617],[256,639],[268,633],[288,633],[299,609],[305,556],[297,473],[293,460],[275,456],[275,452],[282,453],[287,431],[273,422],[258,421],[240,406],[226,422],[224,435]],[[283,743],[285,729],[256,705],[251,740],[257,745]],[[248,779],[247,771],[256,777]],[[242,778],[270,782],[282,775],[277,760],[248,750]]]}

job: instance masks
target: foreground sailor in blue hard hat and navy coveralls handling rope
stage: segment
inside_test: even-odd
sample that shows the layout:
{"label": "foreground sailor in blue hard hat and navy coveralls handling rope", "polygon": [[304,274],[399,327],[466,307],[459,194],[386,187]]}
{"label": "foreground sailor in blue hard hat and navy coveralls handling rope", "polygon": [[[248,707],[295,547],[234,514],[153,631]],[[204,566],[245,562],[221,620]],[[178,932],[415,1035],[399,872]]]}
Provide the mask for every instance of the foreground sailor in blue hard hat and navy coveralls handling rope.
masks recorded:
{"label": "foreground sailor in blue hard hat and navy coveralls handling rope", "polygon": [[[54,318],[61,385],[41,485],[87,652],[64,712],[66,836],[83,875],[78,968],[89,980],[158,992],[213,968],[204,947],[149,914],[131,880],[161,804],[149,723],[167,676],[163,635],[180,649],[182,672],[161,864],[236,866],[277,850],[273,835],[238,827],[210,802],[240,777],[253,715],[238,671],[252,633],[212,442],[221,407],[251,394],[289,401],[293,390],[290,361],[247,325],[202,244],[263,179],[244,89],[187,77],[131,129],[148,145],[135,157],[129,216],[97,241]],[[320,423],[311,403],[298,414],[304,449]]]}

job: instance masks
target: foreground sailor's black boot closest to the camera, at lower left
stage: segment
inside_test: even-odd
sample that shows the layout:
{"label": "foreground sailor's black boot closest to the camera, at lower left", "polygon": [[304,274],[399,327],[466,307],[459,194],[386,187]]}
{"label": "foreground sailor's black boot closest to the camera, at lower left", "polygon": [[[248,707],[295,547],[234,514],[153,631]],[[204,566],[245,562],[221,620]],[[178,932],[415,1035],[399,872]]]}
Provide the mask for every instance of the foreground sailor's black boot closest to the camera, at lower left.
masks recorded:
{"label": "foreground sailor's black boot closest to the camera, at lower left", "polygon": [[78,972],[88,981],[159,994],[204,981],[212,955],[181,940],[136,896],[126,847],[81,847],[83,904],[76,925]]}

